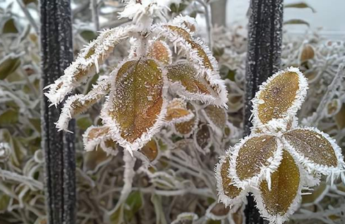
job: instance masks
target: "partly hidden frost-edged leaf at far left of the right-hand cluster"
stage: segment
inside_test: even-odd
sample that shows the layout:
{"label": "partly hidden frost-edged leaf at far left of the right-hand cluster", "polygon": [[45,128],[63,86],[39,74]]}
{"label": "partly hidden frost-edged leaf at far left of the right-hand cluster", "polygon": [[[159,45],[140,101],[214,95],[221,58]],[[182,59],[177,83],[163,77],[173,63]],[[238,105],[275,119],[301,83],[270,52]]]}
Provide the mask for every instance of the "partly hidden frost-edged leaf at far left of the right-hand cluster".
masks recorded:
{"label": "partly hidden frost-edged leaf at far left of the right-hand cluster", "polygon": [[239,189],[233,185],[233,179],[230,178],[228,170],[230,169],[230,157],[228,153],[225,156],[221,156],[219,163],[214,169],[217,178],[217,190],[219,201],[226,206],[232,207],[242,203],[242,198],[245,193],[242,189]]}

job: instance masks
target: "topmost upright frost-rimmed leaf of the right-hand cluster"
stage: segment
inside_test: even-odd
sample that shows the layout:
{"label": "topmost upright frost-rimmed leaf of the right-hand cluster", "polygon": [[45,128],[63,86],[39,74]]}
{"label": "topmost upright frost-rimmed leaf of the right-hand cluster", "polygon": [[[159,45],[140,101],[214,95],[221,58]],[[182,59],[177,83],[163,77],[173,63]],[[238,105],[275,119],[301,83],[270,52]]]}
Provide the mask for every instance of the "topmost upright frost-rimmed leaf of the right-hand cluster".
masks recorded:
{"label": "topmost upright frost-rimmed leaf of the right-hand cluster", "polygon": [[253,99],[254,127],[286,130],[287,122],[301,108],[307,89],[307,80],[294,67],[268,78]]}

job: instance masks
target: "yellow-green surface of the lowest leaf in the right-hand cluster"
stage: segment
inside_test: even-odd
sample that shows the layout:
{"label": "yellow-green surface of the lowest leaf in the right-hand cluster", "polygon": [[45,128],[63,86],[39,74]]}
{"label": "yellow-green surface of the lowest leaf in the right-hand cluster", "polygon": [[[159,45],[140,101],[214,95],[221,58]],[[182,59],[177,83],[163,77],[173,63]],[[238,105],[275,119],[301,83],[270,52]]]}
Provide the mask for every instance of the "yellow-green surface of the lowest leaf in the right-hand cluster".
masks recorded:
{"label": "yellow-green surface of the lowest leaf in the right-hand cluster", "polygon": [[292,156],[284,150],[278,170],[271,175],[271,190],[266,180],[260,184],[262,203],[270,216],[284,216],[288,212],[297,193],[301,193],[298,192],[299,182],[298,166]]}

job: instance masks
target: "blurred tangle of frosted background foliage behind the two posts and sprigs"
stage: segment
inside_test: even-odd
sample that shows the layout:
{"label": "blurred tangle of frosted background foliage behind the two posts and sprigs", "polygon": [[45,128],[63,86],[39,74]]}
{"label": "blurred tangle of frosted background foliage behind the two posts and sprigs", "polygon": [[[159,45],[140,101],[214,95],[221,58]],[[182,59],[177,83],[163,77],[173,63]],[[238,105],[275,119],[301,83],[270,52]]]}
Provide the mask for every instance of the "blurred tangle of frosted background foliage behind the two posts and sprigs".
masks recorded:
{"label": "blurred tangle of frosted background foliage behind the two posts and sprigs", "polygon": [[[229,211],[217,203],[214,164],[228,146],[242,137],[246,27],[224,26],[224,1],[176,1],[170,19],[180,13],[196,17],[196,34],[212,46],[228,87],[228,111],[190,105],[196,119],[165,128],[154,139],[154,155],[137,160],[133,191],[114,210],[123,186],[124,162],[103,150],[83,151],[81,135],[99,124],[99,105],[76,119],[77,223],[242,223],[243,207]],[[178,3],[179,2],[179,3]],[[211,7],[212,6],[212,7]],[[121,1],[72,2],[74,53],[103,28],[129,21],[117,19]],[[288,8],[311,8],[306,3]],[[217,14],[216,14],[217,13]],[[317,13],[317,12],[315,12]],[[0,2],[0,223],[44,223],[44,161],[41,148],[40,19],[35,0]],[[217,21],[217,24],[216,24]],[[294,19],[286,25],[308,24]],[[285,33],[286,34],[286,33]],[[129,43],[117,47],[101,67],[109,74],[128,54]],[[121,57],[120,57],[121,56]],[[345,43],[326,40],[317,31],[283,35],[282,68],[300,67],[309,79],[308,98],[300,122],[317,126],[337,139],[345,150]],[[96,83],[94,76],[77,92]],[[150,152],[152,150],[149,150]],[[145,154],[145,153],[144,153]],[[301,209],[290,223],[344,223],[345,186],[322,183],[303,196]],[[188,222],[187,222],[188,221]]]}

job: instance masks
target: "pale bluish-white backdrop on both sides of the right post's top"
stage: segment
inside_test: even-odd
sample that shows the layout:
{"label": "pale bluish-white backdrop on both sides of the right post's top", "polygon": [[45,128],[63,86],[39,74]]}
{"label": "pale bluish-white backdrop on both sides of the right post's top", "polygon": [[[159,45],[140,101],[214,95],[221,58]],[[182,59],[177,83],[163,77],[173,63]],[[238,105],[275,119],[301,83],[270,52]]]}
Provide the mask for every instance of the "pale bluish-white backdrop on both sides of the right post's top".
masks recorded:
{"label": "pale bluish-white backdrop on both sides of the right post's top", "polygon": [[[285,0],[284,3],[305,2],[312,6],[316,12],[309,8],[285,8],[284,20],[303,19],[308,21],[310,28],[319,31],[320,35],[345,39],[345,0]],[[228,0],[226,22],[230,24],[246,24],[246,12],[249,0]],[[287,25],[288,33],[305,33],[308,26]]]}

